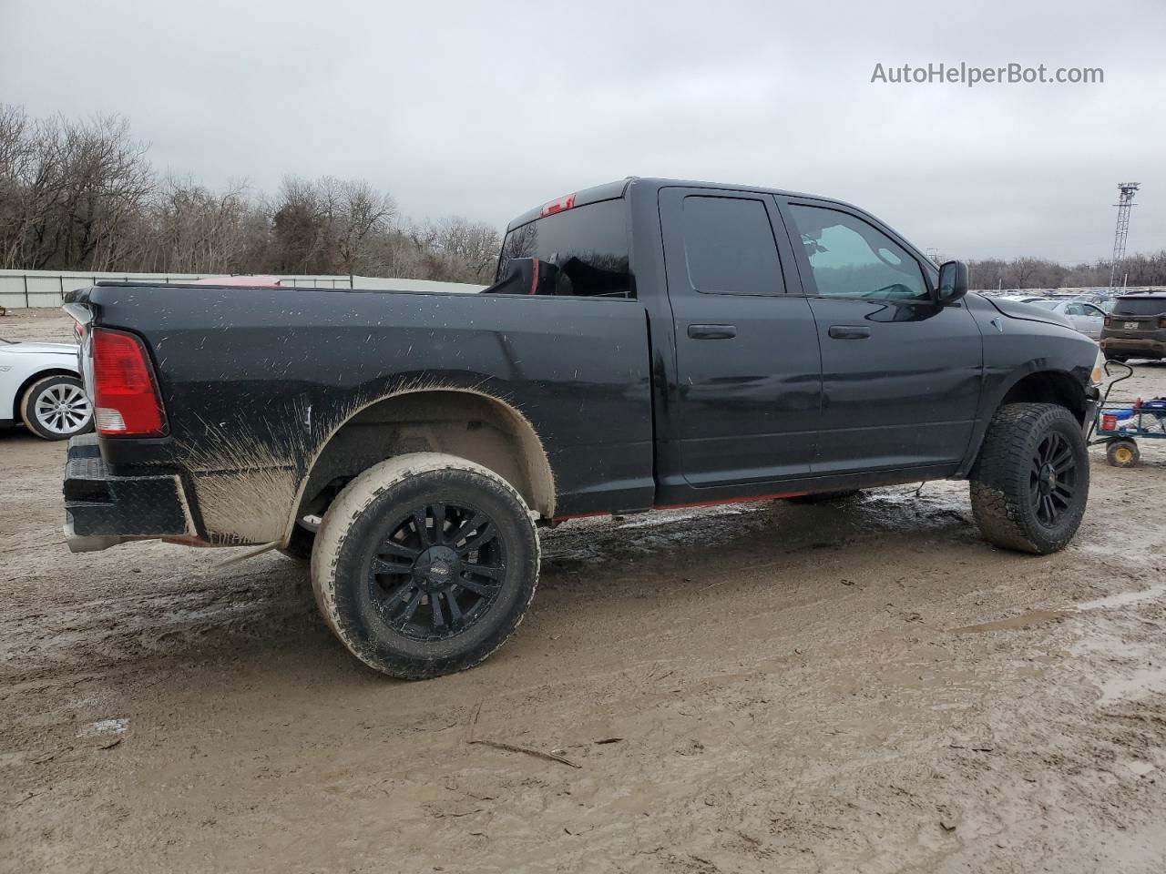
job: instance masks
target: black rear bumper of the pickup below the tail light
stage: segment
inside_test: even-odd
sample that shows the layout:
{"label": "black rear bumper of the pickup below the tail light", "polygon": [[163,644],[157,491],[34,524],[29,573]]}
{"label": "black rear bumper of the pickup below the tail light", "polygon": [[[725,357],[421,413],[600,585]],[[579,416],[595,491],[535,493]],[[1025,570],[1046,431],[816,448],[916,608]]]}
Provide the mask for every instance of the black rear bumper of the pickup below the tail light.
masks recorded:
{"label": "black rear bumper of the pickup below the tail light", "polygon": [[196,536],[181,478],[115,477],[101,459],[94,435],[69,440],[64,499],[65,541],[72,552],[128,540]]}

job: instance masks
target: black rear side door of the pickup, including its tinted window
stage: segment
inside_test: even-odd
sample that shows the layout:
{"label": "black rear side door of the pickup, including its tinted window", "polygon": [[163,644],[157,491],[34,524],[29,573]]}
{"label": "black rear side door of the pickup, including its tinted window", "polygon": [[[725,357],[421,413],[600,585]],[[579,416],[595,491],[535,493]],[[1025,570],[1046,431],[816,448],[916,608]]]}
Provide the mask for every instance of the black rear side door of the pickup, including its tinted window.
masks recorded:
{"label": "black rear side door of the pickup, including its tinted window", "polygon": [[[681,470],[697,488],[806,475],[822,397],[814,315],[766,195],[660,191]],[[780,245],[779,245],[780,244]]]}

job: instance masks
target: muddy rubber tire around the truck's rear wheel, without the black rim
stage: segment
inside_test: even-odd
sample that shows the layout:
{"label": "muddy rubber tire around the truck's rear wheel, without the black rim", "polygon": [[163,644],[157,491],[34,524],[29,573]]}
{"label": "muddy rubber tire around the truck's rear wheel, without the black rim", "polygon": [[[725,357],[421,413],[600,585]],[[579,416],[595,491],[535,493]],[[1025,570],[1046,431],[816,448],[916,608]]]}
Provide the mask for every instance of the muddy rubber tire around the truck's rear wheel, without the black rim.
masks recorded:
{"label": "muddy rubber tire around the truck's rear wheel, without the black rim", "polygon": [[[444,640],[417,640],[385,621],[371,565],[393,514],[416,506],[424,513],[438,500],[484,513],[505,558],[496,600],[472,625]],[[415,452],[370,467],[337,495],[316,534],[311,584],[324,621],[352,655],[381,674],[424,679],[472,668],[506,642],[534,598],[539,562],[531,512],[508,482],[457,456]]]}

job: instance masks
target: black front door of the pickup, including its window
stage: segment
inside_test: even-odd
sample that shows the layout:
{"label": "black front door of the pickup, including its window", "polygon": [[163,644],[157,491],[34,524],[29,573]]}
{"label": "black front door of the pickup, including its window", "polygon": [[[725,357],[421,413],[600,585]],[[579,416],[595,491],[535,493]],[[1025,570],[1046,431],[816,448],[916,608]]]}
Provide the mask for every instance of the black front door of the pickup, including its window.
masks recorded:
{"label": "black front door of the pickup, including its window", "polygon": [[939,306],[922,262],[869,217],[780,199],[822,350],[815,474],[957,463],[983,346],[967,304]]}

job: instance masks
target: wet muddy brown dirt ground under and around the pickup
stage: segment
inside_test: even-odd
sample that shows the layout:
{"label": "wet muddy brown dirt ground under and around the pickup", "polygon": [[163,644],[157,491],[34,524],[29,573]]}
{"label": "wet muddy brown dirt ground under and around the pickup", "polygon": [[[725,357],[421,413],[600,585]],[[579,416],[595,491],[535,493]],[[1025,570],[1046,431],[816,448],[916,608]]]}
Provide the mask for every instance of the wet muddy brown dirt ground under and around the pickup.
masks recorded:
{"label": "wet muddy brown dirt ground under and around the pickup", "polygon": [[5,872],[1166,866],[1166,446],[1095,449],[1044,558],[955,482],[563,526],[519,634],[416,684],[278,555],[70,555],[63,453],[0,435]]}

